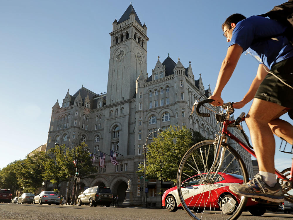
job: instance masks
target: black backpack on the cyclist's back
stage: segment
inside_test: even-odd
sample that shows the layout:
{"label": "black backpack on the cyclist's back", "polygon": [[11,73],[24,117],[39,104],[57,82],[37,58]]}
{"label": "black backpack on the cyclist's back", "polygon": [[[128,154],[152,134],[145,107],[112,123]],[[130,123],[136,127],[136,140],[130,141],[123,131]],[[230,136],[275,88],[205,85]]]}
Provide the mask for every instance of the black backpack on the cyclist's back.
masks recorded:
{"label": "black backpack on the cyclist's back", "polygon": [[289,0],[281,5],[277,5],[269,12],[258,15],[258,16],[269,17],[271,19],[279,21],[280,23],[287,26],[287,29],[284,33],[272,35],[266,38],[257,39],[253,43],[256,43],[261,40],[268,40],[270,38],[275,38],[281,35],[285,35],[288,38],[289,42],[293,45],[293,40],[292,40],[293,39],[293,0]]}

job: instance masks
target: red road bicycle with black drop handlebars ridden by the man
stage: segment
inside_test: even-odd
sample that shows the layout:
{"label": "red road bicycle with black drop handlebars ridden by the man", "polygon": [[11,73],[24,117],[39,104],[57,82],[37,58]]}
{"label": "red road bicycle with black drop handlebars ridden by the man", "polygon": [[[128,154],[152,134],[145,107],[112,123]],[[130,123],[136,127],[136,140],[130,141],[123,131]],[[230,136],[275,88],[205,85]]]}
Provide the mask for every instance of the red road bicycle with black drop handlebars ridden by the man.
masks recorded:
{"label": "red road bicycle with black drop handlebars ridden by the man", "polygon": [[[201,113],[200,107],[212,101],[214,100],[207,99],[199,102],[196,105],[196,113],[199,116],[210,117],[209,113]],[[193,114],[194,107],[195,104],[191,114]],[[234,109],[230,102],[223,104],[222,110],[219,114],[216,114],[216,120],[221,125],[219,135],[216,135],[214,140],[201,141],[193,145],[180,162],[177,173],[177,191],[181,206],[191,219],[237,219],[246,207],[247,202],[260,201],[260,199],[252,199],[251,201],[248,200],[248,197],[237,196],[228,190],[229,185],[218,184],[219,177],[228,179],[231,175],[242,176],[243,183],[249,181],[246,165],[239,153],[227,144],[228,138],[239,143],[244,150],[256,158],[240,125],[240,122],[245,121],[245,113],[242,112],[236,120],[231,120],[230,115],[233,113]],[[237,127],[241,130],[247,145],[228,131],[228,127]],[[229,163],[226,163],[227,161]],[[235,169],[233,163],[237,164],[239,168]],[[277,181],[282,186],[285,200],[290,202],[293,202],[292,172],[293,162],[291,167],[282,172],[275,169]],[[255,213],[259,216],[262,214]]]}

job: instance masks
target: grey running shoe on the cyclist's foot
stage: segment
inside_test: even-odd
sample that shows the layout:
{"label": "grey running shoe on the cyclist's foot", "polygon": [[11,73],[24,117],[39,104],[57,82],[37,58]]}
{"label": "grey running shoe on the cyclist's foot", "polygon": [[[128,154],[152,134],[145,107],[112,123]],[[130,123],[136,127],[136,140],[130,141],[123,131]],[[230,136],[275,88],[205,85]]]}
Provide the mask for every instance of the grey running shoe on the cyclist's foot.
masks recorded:
{"label": "grey running shoe on the cyclist's foot", "polygon": [[276,183],[274,187],[268,186],[260,174],[245,184],[231,184],[229,189],[235,194],[253,198],[261,198],[270,202],[284,202],[284,194],[281,185]]}

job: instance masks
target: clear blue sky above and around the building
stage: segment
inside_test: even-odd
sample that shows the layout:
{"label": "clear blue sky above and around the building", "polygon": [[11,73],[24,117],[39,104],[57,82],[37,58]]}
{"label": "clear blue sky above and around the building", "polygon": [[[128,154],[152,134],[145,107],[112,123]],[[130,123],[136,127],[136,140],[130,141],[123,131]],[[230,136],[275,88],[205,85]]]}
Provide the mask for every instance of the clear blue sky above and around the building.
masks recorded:
{"label": "clear blue sky above and around the building", "polygon": [[[227,51],[221,25],[232,13],[265,13],[285,0],[132,1],[148,30],[147,71],[157,57],[178,57],[195,78],[202,74],[213,91]],[[112,23],[130,1],[4,1],[0,0],[0,168],[47,142],[52,106],[73,95],[82,84],[95,93],[107,91]],[[222,93],[240,101],[255,76],[258,63],[243,53]],[[251,103],[243,110],[248,112]],[[285,116],[292,123],[288,116]],[[246,130],[248,133],[248,130]],[[279,147],[279,145],[277,145]],[[277,153],[280,170],[292,155]]]}

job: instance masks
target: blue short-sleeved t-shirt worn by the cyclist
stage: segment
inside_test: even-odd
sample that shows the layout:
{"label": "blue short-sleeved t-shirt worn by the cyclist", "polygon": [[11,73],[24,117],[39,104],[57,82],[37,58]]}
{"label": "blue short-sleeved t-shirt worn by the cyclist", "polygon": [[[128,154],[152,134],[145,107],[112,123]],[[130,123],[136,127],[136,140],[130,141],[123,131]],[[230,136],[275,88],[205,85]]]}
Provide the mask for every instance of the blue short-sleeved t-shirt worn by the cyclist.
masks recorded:
{"label": "blue short-sleeved t-shirt worn by the cyclist", "polygon": [[[269,69],[277,62],[293,57],[293,46],[287,37],[281,35],[277,40],[253,40],[284,33],[286,26],[279,22],[261,16],[251,16],[236,24],[229,46],[238,44],[243,51],[251,48]],[[253,44],[252,44],[253,43]]]}

